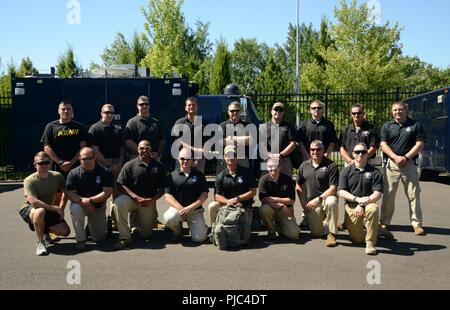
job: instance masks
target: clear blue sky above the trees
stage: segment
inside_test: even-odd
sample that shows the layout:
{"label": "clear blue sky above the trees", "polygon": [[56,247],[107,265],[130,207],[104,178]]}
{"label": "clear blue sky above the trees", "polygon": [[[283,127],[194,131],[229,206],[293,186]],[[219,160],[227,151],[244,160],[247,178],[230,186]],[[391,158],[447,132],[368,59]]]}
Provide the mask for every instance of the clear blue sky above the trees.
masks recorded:
{"label": "clear blue sky above the trees", "polygon": [[[117,31],[129,37],[143,30],[140,7],[147,6],[147,0],[71,1],[80,3],[79,24],[67,23],[69,0],[2,1],[0,72],[11,58],[19,65],[26,56],[38,70],[48,72],[68,44],[78,63],[88,67],[91,61],[101,63],[100,54]],[[401,43],[406,55],[441,68],[450,66],[449,0],[375,1],[380,3],[382,23],[398,22],[404,28]],[[333,21],[338,4],[339,0],[300,0],[300,22],[318,28],[322,16]],[[183,12],[191,27],[197,19],[210,23],[212,42],[222,36],[232,46],[243,37],[272,46],[285,41],[289,22],[295,24],[296,0],[185,0]]]}

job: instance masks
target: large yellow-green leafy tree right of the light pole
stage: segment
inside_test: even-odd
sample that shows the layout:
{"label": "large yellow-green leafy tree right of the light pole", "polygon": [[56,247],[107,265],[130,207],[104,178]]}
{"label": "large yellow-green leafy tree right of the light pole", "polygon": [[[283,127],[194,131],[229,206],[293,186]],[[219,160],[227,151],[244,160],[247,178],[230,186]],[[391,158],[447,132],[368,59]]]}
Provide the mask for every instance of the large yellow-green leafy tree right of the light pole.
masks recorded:
{"label": "large yellow-green leafy tree right of the light pole", "polygon": [[398,25],[373,23],[366,4],[356,0],[335,8],[333,47],[319,50],[326,63],[325,84],[332,89],[385,89],[402,85]]}

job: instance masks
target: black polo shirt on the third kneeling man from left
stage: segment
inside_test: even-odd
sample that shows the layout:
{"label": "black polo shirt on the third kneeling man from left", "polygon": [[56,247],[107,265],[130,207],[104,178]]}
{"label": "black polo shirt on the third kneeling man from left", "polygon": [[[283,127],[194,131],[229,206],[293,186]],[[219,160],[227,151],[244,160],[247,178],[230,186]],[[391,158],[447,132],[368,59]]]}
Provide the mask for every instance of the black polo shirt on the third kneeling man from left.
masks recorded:
{"label": "black polo shirt on the third kneeling man from left", "polygon": [[[127,162],[120,171],[117,183],[125,185],[133,193],[143,197],[151,198],[158,190],[164,189],[165,185],[164,166],[156,161],[150,160],[148,165],[139,157]],[[123,188],[120,191],[126,194]]]}

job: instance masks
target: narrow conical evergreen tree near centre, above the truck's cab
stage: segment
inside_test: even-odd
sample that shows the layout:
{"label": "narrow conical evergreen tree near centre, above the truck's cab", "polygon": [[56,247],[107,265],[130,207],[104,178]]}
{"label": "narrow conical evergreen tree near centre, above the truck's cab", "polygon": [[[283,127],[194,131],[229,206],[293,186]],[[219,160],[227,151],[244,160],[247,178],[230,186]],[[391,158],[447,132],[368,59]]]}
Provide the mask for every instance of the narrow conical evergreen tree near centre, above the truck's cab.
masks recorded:
{"label": "narrow conical evergreen tree near centre, above the truck's cab", "polygon": [[216,54],[212,61],[211,80],[209,90],[212,94],[221,94],[227,84],[231,82],[231,56],[226,42],[221,39],[217,43]]}

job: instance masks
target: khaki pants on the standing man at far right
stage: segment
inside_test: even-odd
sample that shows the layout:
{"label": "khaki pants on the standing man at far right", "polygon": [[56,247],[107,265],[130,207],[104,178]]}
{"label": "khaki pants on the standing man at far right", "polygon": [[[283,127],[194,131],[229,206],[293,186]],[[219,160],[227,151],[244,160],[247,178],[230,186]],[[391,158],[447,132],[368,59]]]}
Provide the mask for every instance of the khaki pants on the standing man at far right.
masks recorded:
{"label": "khaki pants on the standing man at far right", "polygon": [[386,182],[381,204],[380,223],[389,225],[395,210],[395,195],[400,180],[403,183],[406,197],[409,201],[409,217],[413,227],[422,226],[422,208],[420,206],[420,185],[417,167],[409,160],[405,166],[399,168],[394,161],[388,160],[386,165]]}

